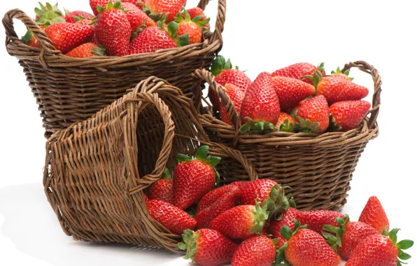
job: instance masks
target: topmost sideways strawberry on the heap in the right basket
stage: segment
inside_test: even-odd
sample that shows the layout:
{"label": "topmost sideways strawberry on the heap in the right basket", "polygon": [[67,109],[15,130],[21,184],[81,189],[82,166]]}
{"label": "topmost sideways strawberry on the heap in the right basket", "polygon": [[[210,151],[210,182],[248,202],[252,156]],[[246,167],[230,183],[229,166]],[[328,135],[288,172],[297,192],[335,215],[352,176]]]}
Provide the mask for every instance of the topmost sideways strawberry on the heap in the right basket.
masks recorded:
{"label": "topmost sideways strawberry on the heap in the right basket", "polygon": [[325,76],[326,72],[324,69],[325,64],[321,63],[319,66],[314,66],[310,63],[297,63],[290,66],[284,67],[283,69],[278,69],[274,71],[272,76],[281,76],[288,78],[296,78],[303,80],[306,83],[313,84],[313,81],[309,78],[303,78],[304,76],[313,76],[314,71],[320,71]]}

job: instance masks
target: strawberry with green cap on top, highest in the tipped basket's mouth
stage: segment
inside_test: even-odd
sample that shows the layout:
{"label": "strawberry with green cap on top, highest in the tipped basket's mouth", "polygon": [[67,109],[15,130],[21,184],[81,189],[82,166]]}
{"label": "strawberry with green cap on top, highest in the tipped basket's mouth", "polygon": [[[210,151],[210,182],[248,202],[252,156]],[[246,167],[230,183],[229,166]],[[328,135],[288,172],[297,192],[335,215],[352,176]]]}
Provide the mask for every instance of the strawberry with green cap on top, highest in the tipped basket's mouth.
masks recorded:
{"label": "strawberry with green cap on top, highest in the tipped basket's mouth", "polygon": [[197,150],[196,158],[178,154],[180,164],[174,172],[174,204],[180,209],[187,209],[198,202],[214,186],[218,179],[215,165],[220,158],[207,156],[208,146]]}

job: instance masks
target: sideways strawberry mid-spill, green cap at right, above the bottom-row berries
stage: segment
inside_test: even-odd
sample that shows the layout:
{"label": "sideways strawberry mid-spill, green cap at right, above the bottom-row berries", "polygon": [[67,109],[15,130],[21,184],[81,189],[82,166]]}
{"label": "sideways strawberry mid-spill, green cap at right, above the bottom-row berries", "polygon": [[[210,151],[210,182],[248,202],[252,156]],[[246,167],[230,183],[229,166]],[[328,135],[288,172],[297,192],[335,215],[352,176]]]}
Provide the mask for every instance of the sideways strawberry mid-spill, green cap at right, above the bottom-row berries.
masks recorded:
{"label": "sideways strawberry mid-spill, green cap at right, above the bottom-row berries", "polygon": [[240,205],[217,216],[210,228],[232,239],[248,239],[262,232],[267,219],[266,205]]}

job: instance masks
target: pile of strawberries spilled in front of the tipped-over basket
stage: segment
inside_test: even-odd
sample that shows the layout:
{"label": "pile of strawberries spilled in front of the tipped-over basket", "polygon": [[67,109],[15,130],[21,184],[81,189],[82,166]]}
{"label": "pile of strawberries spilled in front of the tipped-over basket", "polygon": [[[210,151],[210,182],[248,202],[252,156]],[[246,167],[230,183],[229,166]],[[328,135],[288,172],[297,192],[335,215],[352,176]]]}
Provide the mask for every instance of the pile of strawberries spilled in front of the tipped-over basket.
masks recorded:
{"label": "pile of strawberries spilled in front of the tipped-over basket", "polygon": [[[323,97],[323,96],[322,96]],[[323,97],[324,98],[324,97]],[[320,105],[320,104],[318,104]],[[370,197],[359,221],[337,211],[299,211],[276,181],[236,181],[220,188],[220,158],[208,146],[195,158],[178,155],[174,181],[163,178],[144,195],[150,217],[181,235],[178,248],[198,265],[402,265],[411,240],[397,241],[381,202]]]}

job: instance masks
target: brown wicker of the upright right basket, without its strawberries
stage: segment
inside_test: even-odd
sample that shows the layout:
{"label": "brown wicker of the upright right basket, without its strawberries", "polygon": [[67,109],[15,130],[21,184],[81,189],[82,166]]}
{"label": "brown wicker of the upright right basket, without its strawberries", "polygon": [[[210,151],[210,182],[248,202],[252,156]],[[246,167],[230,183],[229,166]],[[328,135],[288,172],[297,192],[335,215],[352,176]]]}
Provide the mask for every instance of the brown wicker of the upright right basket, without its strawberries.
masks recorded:
{"label": "brown wicker of the upright right basket, without its strawberries", "polygon": [[[302,210],[334,209],[346,204],[352,173],[368,141],[378,136],[376,118],[379,113],[381,78],[374,66],[358,61],[346,64],[343,71],[353,67],[374,78],[374,95],[370,116],[362,125],[348,132],[325,134],[271,132],[269,134],[239,134],[240,118],[224,91],[206,70],[197,70],[196,85],[201,80],[218,92],[229,116],[236,126],[222,123],[218,113],[209,108],[198,108],[200,121],[206,133],[218,144],[236,148],[253,163],[261,179],[274,179],[283,186],[292,187],[292,195]],[[199,92],[199,90],[196,90]],[[201,99],[201,93],[199,94]],[[234,162],[227,162],[227,182],[234,181],[243,171]]]}

